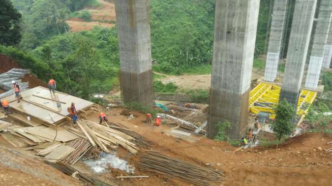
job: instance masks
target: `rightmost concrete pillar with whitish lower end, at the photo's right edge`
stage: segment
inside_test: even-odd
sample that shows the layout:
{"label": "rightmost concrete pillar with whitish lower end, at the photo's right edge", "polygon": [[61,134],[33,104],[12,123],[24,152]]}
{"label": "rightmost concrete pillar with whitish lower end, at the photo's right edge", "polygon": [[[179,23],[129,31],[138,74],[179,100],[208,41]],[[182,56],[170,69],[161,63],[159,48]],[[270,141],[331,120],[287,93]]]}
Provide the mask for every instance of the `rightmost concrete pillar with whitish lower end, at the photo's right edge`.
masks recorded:
{"label": "rightmost concrete pillar with whitish lower end, at the photo's right edge", "polygon": [[317,27],[315,29],[308,72],[306,77],[307,88],[317,88],[323,64],[323,56],[332,19],[332,1],[322,0],[319,7]]}

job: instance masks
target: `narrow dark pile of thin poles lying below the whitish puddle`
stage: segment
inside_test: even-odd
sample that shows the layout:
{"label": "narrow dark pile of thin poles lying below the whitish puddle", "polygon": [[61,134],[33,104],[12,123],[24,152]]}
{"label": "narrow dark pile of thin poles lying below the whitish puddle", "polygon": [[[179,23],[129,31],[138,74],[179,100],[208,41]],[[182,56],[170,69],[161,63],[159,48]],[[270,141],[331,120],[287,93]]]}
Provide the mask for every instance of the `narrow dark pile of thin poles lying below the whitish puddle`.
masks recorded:
{"label": "narrow dark pile of thin poles lying below the whitish puddle", "polygon": [[50,165],[51,167],[54,167],[62,172],[64,172],[65,174],[69,175],[69,176],[73,176],[73,177],[77,177],[78,179],[82,180],[83,182],[86,183],[86,185],[88,183],[92,183],[93,185],[105,185],[105,186],[111,186],[108,183],[105,183],[99,179],[94,178],[93,176],[90,176],[88,174],[84,174],[80,171],[78,171],[77,169],[73,168],[72,166],[62,163],[62,162],[50,162],[50,161],[45,161],[46,164]]}

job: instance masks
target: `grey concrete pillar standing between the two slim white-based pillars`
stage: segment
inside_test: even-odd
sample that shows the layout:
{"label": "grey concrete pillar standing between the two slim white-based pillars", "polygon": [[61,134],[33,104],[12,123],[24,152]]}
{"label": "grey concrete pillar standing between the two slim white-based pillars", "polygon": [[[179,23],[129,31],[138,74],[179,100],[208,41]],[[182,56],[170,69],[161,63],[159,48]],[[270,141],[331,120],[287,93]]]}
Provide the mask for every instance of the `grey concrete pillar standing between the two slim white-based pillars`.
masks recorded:
{"label": "grey concrete pillar standing between the two slim white-based pillars", "polygon": [[295,1],[287,63],[280,94],[280,100],[286,98],[294,106],[297,105],[303,78],[316,4],[316,0]]}

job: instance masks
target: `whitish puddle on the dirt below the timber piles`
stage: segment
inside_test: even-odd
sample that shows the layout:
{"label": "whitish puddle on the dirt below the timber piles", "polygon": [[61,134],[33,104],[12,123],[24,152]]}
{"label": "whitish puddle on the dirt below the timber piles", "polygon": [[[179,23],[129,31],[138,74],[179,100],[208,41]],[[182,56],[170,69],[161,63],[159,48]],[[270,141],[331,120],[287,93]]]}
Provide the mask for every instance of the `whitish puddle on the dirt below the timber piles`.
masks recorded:
{"label": "whitish puddle on the dirt below the timber piles", "polygon": [[83,163],[88,165],[96,173],[107,172],[107,167],[109,166],[114,169],[126,171],[130,174],[134,173],[135,167],[130,166],[126,160],[121,160],[116,155],[103,153],[101,157],[102,158],[98,160],[85,160]]}

